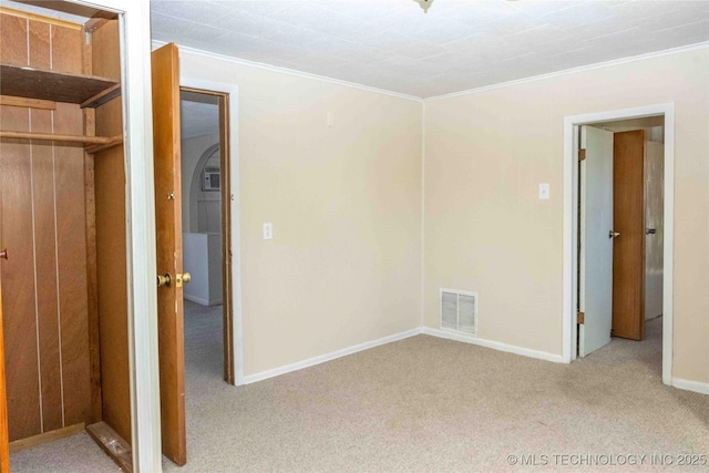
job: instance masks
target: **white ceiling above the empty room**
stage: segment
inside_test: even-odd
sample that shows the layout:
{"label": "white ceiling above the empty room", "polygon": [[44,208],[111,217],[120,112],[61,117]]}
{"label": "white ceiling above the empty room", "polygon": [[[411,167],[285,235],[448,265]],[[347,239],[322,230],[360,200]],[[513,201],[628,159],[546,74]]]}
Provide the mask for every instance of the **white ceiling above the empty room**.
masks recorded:
{"label": "white ceiling above the empty room", "polygon": [[709,41],[709,1],[151,2],[153,38],[420,97]]}

